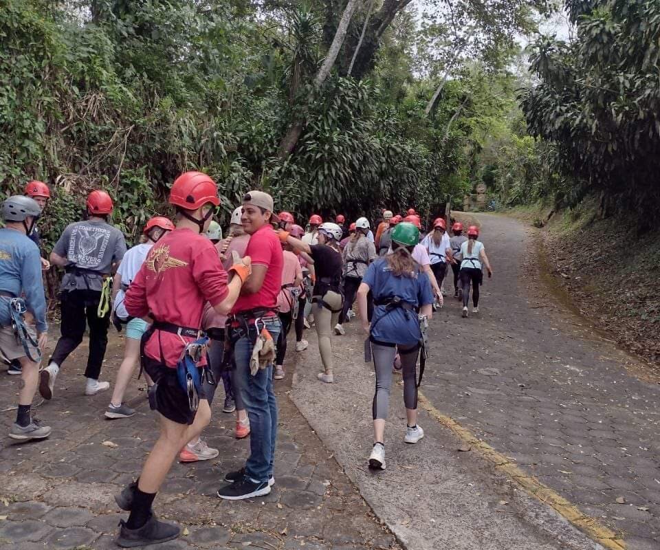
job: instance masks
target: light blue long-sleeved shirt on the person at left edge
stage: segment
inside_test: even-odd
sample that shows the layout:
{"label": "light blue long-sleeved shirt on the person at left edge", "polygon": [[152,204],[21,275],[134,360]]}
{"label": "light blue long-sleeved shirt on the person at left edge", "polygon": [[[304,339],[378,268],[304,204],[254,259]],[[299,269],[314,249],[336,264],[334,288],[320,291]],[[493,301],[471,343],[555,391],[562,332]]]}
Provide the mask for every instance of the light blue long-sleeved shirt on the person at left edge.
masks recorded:
{"label": "light blue long-sleeved shirt on the person at left edge", "polygon": [[[36,329],[45,332],[46,299],[41,278],[39,248],[25,234],[0,229],[0,290],[14,296],[25,294],[28,310],[34,315]],[[0,325],[11,325],[9,300],[0,297]]]}

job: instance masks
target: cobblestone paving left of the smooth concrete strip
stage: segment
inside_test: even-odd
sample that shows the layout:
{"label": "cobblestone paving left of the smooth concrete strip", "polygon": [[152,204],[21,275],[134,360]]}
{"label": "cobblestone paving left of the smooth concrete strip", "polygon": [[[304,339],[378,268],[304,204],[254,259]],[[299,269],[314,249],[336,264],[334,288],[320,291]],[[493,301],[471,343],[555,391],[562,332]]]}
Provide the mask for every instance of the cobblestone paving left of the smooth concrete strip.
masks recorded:
{"label": "cobblestone paving left of the smooth concrete strip", "polygon": [[[104,368],[107,380],[113,380],[121,347],[114,336]],[[112,496],[140,471],[157,434],[155,417],[134,382],[129,398],[138,414],[103,419],[109,394],[82,395],[82,355],[78,351],[69,359],[54,399],[36,409],[54,428],[50,439],[12,445],[5,438],[0,443],[0,548],[117,548],[117,525],[126,514],[118,514]],[[19,377],[0,377],[5,407],[0,430],[7,433],[16,414],[8,408]],[[233,415],[217,412],[205,435],[220,449],[219,458],[175,464],[155,501],[157,514],[178,522],[188,534],[158,548],[399,549],[290,401],[290,376],[277,388],[281,418],[274,491],[238,503],[215,496],[222,476],[241,465],[248,450],[248,440],[232,437]]]}

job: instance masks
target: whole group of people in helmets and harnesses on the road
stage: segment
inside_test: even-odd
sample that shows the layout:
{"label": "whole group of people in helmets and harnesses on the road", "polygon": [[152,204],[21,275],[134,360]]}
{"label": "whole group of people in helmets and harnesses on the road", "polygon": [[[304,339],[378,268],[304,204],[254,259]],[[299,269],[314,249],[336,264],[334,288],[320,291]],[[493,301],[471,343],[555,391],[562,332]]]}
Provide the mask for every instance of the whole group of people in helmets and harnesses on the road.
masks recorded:
{"label": "whole group of people in helmets and harnesses on the road", "polygon": [[[445,220],[438,218],[423,235],[414,209],[404,216],[384,211],[375,234],[366,217],[347,226],[342,214],[335,221],[314,214],[305,230],[290,212],[275,214],[270,195],[253,190],[232,212],[223,239],[212,219],[220,205],[217,186],[199,172],[174,181],[168,202],[175,219],[149,219],[140,243],[129,250],[122,232],[109,223],[111,197],[92,191],[85,219],[67,226],[46,260],[36,225],[48,199],[48,186],[31,181],[25,195],[9,197],[0,208],[5,225],[0,229],[0,351],[11,363],[9,372],[22,377],[10,437],[50,435],[49,427],[32,419],[32,399],[36,391],[54,397],[58,374],[86,327],[85,395],[108,391],[109,382],[100,380],[108,330],[112,323],[124,331],[124,359],[104,415],[135,415],[124,394],[140,364],[160,430],[140,476],[115,497],[130,512],[120,525],[121,547],[178,536],[176,525],[157,520],[152,503],[175,459],[218,456],[201,434],[220,381],[222,410],[235,412],[237,438],[250,436],[250,456],[225,474],[217,495],[241,500],[272,490],[278,419],[273,384],[285,377],[289,331],[296,333],[296,351],[304,351],[305,327],[314,325],[322,363],[318,380],[333,384],[331,338],[333,332],[346,333],[344,324],[355,309],[367,337],[365,360],[373,360],[376,374],[369,465],[384,469],[393,373],[401,371],[404,381],[404,441],[423,438],[417,388],[426,362],[426,327],[434,308],[443,304],[447,266],[452,265],[454,296],[463,299],[464,317],[470,286],[478,312],[482,266],[492,274],[476,226],[463,236],[456,222],[450,238]],[[50,265],[64,270],[61,338],[40,371],[47,344],[41,271]]]}

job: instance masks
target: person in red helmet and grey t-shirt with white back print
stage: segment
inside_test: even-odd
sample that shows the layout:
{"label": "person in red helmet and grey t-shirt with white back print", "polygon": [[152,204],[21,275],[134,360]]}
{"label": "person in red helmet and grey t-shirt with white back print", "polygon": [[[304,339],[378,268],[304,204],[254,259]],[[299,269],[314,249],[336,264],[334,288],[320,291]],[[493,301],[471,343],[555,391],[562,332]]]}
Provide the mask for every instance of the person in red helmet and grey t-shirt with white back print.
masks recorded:
{"label": "person in red helmet and grey t-shirt with white back print", "polygon": [[39,393],[44,399],[53,397],[60,367],[83,342],[86,325],[89,325],[89,356],[85,395],[96,395],[110,388],[109,382],[99,382],[98,377],[108,344],[111,308],[103,311],[99,303],[109,300],[109,276],[113,265],[126,252],[124,235],[107,223],[112,208],[107,192],[92,191],[87,197],[87,219],[69,224],[50,254],[50,262],[64,267],[65,275],[60,287],[62,336],[39,379]]}

